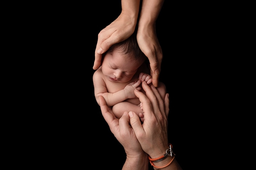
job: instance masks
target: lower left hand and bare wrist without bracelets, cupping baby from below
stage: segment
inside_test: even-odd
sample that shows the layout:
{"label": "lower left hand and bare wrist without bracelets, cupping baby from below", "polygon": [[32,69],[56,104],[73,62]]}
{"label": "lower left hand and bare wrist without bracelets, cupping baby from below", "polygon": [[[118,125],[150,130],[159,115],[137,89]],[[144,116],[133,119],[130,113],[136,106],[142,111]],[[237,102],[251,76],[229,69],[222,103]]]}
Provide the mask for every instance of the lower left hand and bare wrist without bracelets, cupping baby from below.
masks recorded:
{"label": "lower left hand and bare wrist without bracelets, cupping baby from below", "polygon": [[111,107],[106,105],[106,101],[99,96],[101,113],[108,123],[111,132],[116,139],[123,145],[126,152],[126,161],[123,170],[148,170],[148,154],[146,154],[137,140],[135,133],[129,125],[128,112],[124,112],[120,119],[113,114]]}

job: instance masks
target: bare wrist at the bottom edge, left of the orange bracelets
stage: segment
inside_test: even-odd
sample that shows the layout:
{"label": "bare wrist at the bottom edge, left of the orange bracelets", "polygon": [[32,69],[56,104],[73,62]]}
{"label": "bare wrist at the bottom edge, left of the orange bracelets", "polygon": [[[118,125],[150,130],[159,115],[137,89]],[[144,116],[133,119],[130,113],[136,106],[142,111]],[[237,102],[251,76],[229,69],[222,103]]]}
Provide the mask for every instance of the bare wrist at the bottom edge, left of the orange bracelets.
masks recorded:
{"label": "bare wrist at the bottom edge, left of the orange bracelets", "polygon": [[137,156],[126,156],[122,170],[148,170],[148,154],[141,153]]}

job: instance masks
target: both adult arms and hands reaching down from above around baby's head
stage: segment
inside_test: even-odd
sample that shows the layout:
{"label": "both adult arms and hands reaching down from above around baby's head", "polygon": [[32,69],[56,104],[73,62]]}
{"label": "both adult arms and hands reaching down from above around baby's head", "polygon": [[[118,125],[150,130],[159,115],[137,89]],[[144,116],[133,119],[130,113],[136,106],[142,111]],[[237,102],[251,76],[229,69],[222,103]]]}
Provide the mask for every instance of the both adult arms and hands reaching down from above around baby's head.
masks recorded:
{"label": "both adult arms and hands reaching down from above around baby's head", "polygon": [[[138,24],[137,41],[141,51],[150,62],[150,75],[152,83],[158,87],[161,63],[163,58],[162,48],[156,36],[156,19],[161,11],[164,0],[143,0]],[[98,34],[95,49],[93,69],[101,65],[102,54],[111,45],[124,41],[135,30],[139,14],[140,0],[122,0],[121,14],[110,25]]]}

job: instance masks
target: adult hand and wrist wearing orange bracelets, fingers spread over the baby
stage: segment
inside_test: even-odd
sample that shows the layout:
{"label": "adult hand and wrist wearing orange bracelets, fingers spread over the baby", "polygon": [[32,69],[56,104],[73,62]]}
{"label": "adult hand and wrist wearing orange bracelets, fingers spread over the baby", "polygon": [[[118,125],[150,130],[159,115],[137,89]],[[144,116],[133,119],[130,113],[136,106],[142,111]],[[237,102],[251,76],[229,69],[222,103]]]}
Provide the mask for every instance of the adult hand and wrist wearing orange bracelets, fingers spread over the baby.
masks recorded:
{"label": "adult hand and wrist wearing orange bracelets, fingers spread over the baby", "polygon": [[[166,93],[163,100],[156,87],[154,85],[149,87],[145,81],[142,82],[142,88],[147,96],[138,90],[134,90],[134,93],[142,103],[144,122],[141,124],[138,115],[134,112],[129,112],[130,124],[142,149],[154,159],[164,155],[166,149],[170,147],[167,135],[169,94]],[[171,160],[172,163],[168,165]],[[160,167],[168,165],[162,169],[181,169],[176,159],[169,156],[154,164]]]}

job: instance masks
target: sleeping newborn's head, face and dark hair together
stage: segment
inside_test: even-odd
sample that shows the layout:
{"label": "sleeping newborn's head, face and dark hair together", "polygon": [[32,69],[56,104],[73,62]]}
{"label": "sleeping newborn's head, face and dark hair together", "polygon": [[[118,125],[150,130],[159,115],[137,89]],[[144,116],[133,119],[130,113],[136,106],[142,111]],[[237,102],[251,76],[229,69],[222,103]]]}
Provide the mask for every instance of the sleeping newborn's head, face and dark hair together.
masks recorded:
{"label": "sleeping newborn's head, face and dark hair together", "polygon": [[102,72],[114,82],[128,82],[145,62],[146,55],[140,50],[136,34],[112,45],[103,55]]}

